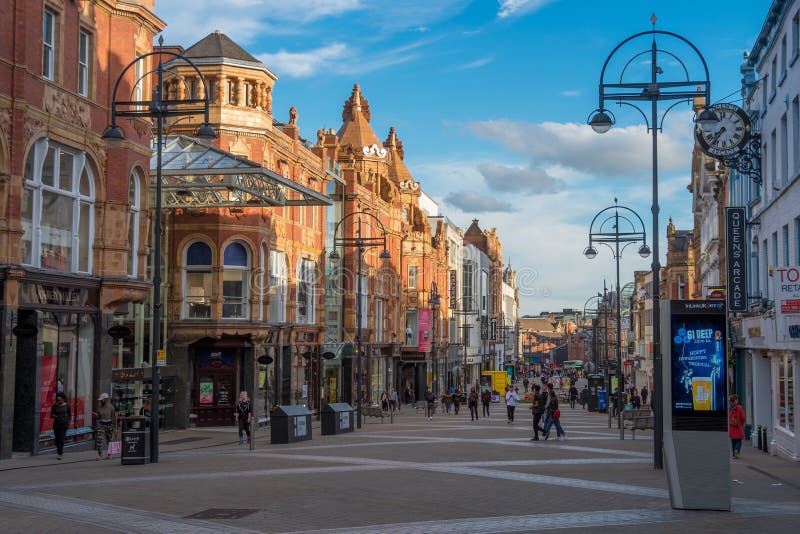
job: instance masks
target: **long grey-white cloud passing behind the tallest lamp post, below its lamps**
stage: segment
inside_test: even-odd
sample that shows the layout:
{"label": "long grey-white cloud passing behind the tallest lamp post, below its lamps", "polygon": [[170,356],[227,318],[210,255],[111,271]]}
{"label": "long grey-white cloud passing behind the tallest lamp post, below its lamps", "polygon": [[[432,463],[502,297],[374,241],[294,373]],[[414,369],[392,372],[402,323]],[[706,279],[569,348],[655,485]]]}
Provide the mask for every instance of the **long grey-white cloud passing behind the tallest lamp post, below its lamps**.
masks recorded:
{"label": "long grey-white cloud passing behind the tallest lamp post, below its lamps", "polygon": [[[652,166],[652,145],[643,125],[612,128],[600,135],[585,124],[487,120],[467,124],[474,135],[495,142],[537,164],[557,163],[599,176],[640,176]],[[690,130],[690,128],[689,128]],[[691,132],[659,135],[659,167],[682,168],[691,151]]]}

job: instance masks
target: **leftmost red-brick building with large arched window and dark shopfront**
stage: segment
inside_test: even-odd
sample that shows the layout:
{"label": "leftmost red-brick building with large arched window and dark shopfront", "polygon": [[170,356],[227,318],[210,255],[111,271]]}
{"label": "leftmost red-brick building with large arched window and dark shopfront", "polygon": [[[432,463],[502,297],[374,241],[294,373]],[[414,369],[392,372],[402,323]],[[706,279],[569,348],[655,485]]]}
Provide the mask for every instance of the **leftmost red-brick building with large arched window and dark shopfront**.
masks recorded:
{"label": "leftmost red-brick building with large arched window and dark shopfront", "polygon": [[[3,2],[0,17],[0,458],[92,436],[110,392],[113,315],[143,302],[150,127],[107,149],[110,89],[152,50],[153,0]],[[112,38],[113,36],[113,38]],[[131,92],[129,71],[121,91]]]}

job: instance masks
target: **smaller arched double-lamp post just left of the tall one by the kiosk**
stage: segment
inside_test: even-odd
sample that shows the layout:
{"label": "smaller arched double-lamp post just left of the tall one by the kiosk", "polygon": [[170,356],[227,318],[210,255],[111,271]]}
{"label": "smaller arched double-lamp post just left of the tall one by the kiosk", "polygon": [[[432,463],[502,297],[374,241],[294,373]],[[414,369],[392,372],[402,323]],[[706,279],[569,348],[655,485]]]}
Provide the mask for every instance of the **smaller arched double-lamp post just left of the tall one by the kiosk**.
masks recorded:
{"label": "smaller arched double-lamp post just left of the tall one by the kiosk", "polygon": [[[621,224],[625,225],[625,231],[622,231],[620,228]],[[584,256],[590,260],[594,259],[597,257],[597,249],[594,245],[598,243],[607,246],[614,253],[614,260],[617,267],[617,404],[620,404],[619,395],[623,386],[619,260],[622,257],[622,251],[624,251],[628,245],[639,241],[642,242],[642,245],[639,247],[639,256],[646,258],[650,255],[650,247],[647,246],[647,233],[644,229],[644,221],[642,221],[639,214],[631,208],[617,204],[617,199],[615,198],[613,206],[600,210],[597,215],[594,216],[594,219],[592,219],[592,223],[589,226],[589,246],[583,251]],[[611,248],[609,243],[614,243],[614,248]],[[622,249],[620,249],[620,244],[623,244]],[[609,391],[609,395],[611,393],[613,392]],[[622,410],[617,410],[617,425],[619,426],[619,438],[623,439]]]}

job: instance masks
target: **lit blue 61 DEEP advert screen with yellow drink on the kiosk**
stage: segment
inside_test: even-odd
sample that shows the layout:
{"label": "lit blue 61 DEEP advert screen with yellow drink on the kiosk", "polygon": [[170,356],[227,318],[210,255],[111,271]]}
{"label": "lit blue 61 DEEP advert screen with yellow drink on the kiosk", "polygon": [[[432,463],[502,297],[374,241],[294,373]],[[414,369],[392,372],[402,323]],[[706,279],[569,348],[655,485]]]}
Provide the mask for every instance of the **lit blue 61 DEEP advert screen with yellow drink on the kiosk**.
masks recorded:
{"label": "lit blue 61 DEEP advert screen with yellow drink on the kiosk", "polygon": [[672,409],[725,412],[725,317],[672,318]]}

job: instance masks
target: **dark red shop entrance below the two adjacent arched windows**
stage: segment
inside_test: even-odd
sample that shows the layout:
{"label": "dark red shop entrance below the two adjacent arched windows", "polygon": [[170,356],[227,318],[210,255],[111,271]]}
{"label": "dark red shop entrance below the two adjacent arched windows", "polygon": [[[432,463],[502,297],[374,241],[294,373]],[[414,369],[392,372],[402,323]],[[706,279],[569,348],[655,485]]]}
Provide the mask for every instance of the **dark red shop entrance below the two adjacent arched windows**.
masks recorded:
{"label": "dark red shop entrance below the two adjacent arched windows", "polygon": [[234,424],[236,360],[235,349],[198,350],[192,395],[197,426]]}

